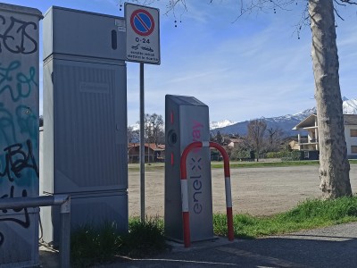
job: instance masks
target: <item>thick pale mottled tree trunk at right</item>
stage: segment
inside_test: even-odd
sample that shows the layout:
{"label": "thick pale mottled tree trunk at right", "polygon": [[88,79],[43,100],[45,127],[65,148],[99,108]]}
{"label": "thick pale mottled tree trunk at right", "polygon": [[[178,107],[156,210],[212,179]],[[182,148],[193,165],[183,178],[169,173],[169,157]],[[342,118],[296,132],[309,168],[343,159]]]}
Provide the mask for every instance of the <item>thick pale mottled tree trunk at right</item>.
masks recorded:
{"label": "thick pale mottled tree trunk at right", "polygon": [[325,198],[352,196],[333,0],[309,0],[309,14],[319,126],[320,188]]}

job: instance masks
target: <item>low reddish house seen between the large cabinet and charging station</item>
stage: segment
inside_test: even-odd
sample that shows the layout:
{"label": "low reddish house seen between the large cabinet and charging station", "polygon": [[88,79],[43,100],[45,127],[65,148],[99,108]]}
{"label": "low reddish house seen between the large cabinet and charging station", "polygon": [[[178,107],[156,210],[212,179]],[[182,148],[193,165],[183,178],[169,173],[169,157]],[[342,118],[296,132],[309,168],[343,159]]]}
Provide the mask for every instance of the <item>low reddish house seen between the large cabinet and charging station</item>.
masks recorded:
{"label": "low reddish house seen between the large cabinet and charging station", "polygon": [[[139,163],[140,144],[129,143],[128,162]],[[154,143],[145,143],[145,163],[163,162],[165,160],[165,146]]]}

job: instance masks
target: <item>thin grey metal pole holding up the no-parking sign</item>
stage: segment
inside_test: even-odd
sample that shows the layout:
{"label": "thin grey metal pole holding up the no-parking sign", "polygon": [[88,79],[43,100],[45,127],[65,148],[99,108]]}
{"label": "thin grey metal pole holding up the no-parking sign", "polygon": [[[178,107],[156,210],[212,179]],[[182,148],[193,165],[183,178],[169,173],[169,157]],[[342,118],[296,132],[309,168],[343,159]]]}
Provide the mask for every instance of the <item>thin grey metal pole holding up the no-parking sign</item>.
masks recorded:
{"label": "thin grey metal pole holding up the no-parking sign", "polygon": [[144,63],[140,63],[140,216],[145,222]]}

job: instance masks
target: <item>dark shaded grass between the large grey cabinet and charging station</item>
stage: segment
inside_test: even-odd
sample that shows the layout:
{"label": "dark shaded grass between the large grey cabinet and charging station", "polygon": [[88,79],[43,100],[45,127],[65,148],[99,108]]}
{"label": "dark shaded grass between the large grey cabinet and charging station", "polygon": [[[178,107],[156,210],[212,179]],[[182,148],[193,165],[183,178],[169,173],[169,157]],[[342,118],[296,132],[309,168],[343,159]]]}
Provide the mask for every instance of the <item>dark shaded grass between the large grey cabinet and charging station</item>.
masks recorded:
{"label": "dark shaded grass between the large grey cabinet and charging station", "polygon": [[115,223],[100,228],[80,226],[71,234],[71,266],[89,267],[111,263],[117,255],[144,257],[170,247],[163,234],[163,220],[155,217],[140,222],[129,219],[129,232],[120,234]]}

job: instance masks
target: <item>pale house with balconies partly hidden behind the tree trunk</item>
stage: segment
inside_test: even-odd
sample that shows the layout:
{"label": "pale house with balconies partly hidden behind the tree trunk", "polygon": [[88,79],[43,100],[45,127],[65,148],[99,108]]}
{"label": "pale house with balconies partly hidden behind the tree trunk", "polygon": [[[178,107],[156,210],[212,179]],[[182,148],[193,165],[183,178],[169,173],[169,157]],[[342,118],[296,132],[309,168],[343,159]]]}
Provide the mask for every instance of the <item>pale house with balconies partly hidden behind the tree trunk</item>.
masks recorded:
{"label": "pale house with balconies partly hidden behind the tree trunk", "polygon": [[[347,146],[347,156],[357,158],[357,114],[344,114],[345,141]],[[290,146],[295,150],[314,152],[319,151],[319,126],[317,115],[311,114],[298,123],[293,130],[306,130],[307,138],[297,136],[297,142],[292,141]]]}

